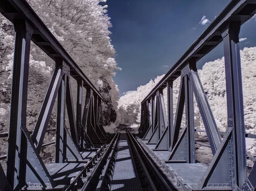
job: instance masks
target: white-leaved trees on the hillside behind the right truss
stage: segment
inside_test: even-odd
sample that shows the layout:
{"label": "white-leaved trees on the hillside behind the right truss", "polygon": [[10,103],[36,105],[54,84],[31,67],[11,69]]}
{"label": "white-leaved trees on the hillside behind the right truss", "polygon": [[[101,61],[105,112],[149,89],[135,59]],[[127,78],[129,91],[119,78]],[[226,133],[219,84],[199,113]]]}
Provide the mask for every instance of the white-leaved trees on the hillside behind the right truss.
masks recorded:
{"label": "white-leaved trees on the hillside behind the right truss", "polygon": [[[256,134],[256,47],[245,47],[240,51],[241,54],[241,71],[244,99],[244,124],[247,133]],[[211,107],[215,122],[220,131],[226,131],[227,128],[227,96],[226,96],[226,81],[225,81],[225,65],[224,57],[215,61],[207,62],[202,69],[198,70],[201,83],[204,87],[209,105]],[[126,109],[131,104],[136,104],[139,112],[137,113],[136,122],[140,122],[140,102],[152,90],[163,75],[158,76],[154,81],[149,81],[148,84],[140,86],[136,91],[129,91],[124,96],[120,97],[118,108]],[[177,78],[173,84],[173,106],[174,116],[177,107],[177,98],[179,93],[180,78]],[[166,89],[163,90],[165,105],[167,104]],[[195,127],[204,129],[204,124],[201,119],[196,100],[194,99],[195,108]],[[167,115],[167,108],[166,108]],[[183,116],[184,118],[184,116]],[[184,123],[184,121],[183,121]],[[256,153],[256,141],[250,142],[247,145],[248,152]]]}

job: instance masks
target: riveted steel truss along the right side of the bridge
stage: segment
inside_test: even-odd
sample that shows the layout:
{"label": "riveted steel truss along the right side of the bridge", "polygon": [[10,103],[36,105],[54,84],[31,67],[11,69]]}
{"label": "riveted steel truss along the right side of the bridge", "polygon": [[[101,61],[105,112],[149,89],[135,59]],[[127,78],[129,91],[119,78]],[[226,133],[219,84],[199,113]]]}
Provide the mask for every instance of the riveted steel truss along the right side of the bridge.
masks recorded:
{"label": "riveted steel truss along the right side of the bridge", "polygon": [[[255,164],[247,177],[239,49],[240,27],[254,14],[255,0],[232,0],[141,102],[139,136],[146,145],[151,145],[154,151],[168,151],[166,164],[173,174],[182,180],[179,183],[184,190],[256,189]],[[196,68],[197,61],[221,41],[224,44],[228,116],[227,131],[222,133],[222,139]],[[180,90],[173,119],[172,86],[178,77]],[[164,88],[167,88],[167,118],[163,101]],[[193,96],[214,155],[209,167],[195,161]],[[186,118],[185,127],[181,127],[183,111]],[[180,169],[186,169],[186,173],[182,174]],[[189,174],[193,182],[188,178]]]}

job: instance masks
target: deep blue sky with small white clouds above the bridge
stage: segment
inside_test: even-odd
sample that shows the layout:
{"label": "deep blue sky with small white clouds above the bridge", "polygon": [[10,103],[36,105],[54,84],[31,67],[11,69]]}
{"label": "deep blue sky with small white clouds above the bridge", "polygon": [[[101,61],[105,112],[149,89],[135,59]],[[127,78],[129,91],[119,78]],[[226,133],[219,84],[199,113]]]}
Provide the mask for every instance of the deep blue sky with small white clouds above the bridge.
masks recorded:
{"label": "deep blue sky with small white clouds above the bridge", "polygon": [[[230,0],[107,0],[111,41],[121,71],[113,78],[119,96],[165,74]],[[240,48],[256,46],[256,19],[241,27]],[[224,56],[220,43],[198,61]]]}

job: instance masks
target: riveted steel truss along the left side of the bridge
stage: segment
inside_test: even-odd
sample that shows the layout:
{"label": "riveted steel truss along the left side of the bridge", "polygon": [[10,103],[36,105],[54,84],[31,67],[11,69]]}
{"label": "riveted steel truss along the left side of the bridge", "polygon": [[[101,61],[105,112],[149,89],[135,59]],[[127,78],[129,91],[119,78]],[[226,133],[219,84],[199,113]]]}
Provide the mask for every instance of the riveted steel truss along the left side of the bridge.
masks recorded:
{"label": "riveted steel truss along the left side of the bridge", "polygon": [[[55,165],[77,162],[66,172],[79,171],[87,162],[82,151],[94,149],[108,138],[102,124],[102,95],[84,75],[66,50],[47,29],[26,0],[1,0],[0,12],[15,27],[15,50],[12,76],[12,95],[8,136],[6,175],[0,168],[1,190],[41,190],[61,188],[53,172],[44,165],[39,153],[42,147],[55,143]],[[55,61],[55,69],[45,95],[35,128],[30,135],[26,128],[26,107],[29,77],[30,43]],[[76,118],[70,78],[77,81]],[[83,89],[86,89],[85,106]],[[56,141],[44,143],[49,118],[57,98]],[[69,126],[65,124],[65,112]],[[68,127],[67,127],[68,126]],[[70,132],[69,130],[70,129]],[[95,150],[95,149],[94,149]],[[55,167],[53,166],[55,169]],[[53,172],[52,172],[53,171]],[[2,183],[2,180],[3,183]],[[63,186],[62,186],[63,187]]]}

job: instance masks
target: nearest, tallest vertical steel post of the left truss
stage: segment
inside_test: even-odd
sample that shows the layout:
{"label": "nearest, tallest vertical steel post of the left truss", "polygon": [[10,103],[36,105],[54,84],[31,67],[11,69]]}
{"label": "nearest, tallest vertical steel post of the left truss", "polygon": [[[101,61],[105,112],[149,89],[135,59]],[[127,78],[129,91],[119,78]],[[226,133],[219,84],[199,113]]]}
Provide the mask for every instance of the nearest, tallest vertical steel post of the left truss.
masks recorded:
{"label": "nearest, tallest vertical steel post of the left truss", "polygon": [[[12,72],[12,95],[10,108],[6,177],[15,188],[24,185],[26,174],[26,104],[29,78],[29,52],[33,33],[26,20],[14,20],[15,50]],[[25,145],[22,145],[25,143]]]}

